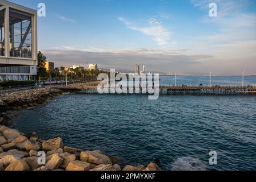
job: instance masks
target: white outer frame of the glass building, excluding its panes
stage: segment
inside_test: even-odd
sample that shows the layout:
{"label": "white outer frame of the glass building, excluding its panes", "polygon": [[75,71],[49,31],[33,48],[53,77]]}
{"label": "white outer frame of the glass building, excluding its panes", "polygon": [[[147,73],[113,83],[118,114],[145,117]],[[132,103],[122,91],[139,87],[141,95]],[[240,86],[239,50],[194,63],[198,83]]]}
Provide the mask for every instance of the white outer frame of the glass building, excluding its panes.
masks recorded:
{"label": "white outer frame of the glass building, excluding its panes", "polygon": [[[4,10],[4,54],[0,55],[0,67],[10,67],[10,66],[36,66],[37,65],[37,11],[33,9],[29,9],[28,7],[17,5],[15,3],[11,3],[5,0],[0,0],[0,11]],[[10,11],[17,11],[18,14],[20,13],[24,15],[31,16],[31,22],[27,27],[29,28],[23,28],[20,27],[21,30],[21,38],[19,38],[20,43],[18,46],[18,52],[21,51],[21,47],[23,46],[23,43],[25,39],[27,38],[27,31],[30,31],[30,41],[31,41],[31,50],[30,50],[30,56],[23,57],[23,56],[14,56],[11,55],[11,32],[10,32]],[[1,18],[1,17],[0,17]],[[22,23],[21,23],[22,26]],[[27,30],[26,30],[27,29]],[[23,32],[23,30],[25,32]],[[14,30],[13,30],[14,31]],[[24,39],[24,40],[23,40]],[[3,44],[3,43],[2,43]],[[14,43],[13,43],[14,44]],[[23,46],[26,47],[26,46]],[[17,52],[17,51],[16,51]],[[28,55],[29,53],[27,53]],[[20,54],[19,54],[20,55]],[[5,78],[10,78],[10,75],[18,75],[18,78],[21,78],[22,76],[19,76],[19,73],[0,73],[0,77],[5,75]],[[22,74],[20,74],[22,75]],[[24,74],[23,74],[24,75]],[[29,74],[31,75],[31,74]],[[27,75],[27,76],[29,76]],[[3,77],[2,77],[3,78]],[[27,79],[27,78],[25,78]],[[3,79],[2,79],[3,80]],[[1,78],[0,78],[1,81]]]}

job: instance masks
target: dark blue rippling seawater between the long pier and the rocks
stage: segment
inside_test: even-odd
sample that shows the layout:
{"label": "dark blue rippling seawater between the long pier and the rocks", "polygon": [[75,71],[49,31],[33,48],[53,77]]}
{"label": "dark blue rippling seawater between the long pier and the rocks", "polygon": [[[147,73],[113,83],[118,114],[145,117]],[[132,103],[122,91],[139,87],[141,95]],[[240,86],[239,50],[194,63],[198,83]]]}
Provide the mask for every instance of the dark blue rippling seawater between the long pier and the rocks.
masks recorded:
{"label": "dark blue rippling seawater between the long pier and the rocks", "polygon": [[[140,95],[69,94],[20,111],[12,127],[43,139],[61,136],[67,146],[123,158],[122,165],[158,158],[161,168],[173,169],[195,158],[207,170],[255,170],[255,105],[256,96],[150,101]],[[215,166],[209,165],[210,151],[217,151]]]}

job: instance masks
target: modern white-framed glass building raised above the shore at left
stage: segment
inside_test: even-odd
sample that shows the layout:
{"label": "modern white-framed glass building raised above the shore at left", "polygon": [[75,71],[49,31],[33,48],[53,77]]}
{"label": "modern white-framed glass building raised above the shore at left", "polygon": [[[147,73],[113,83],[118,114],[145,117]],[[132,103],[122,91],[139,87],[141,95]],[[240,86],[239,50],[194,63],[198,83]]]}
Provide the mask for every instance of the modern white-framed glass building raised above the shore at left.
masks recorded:
{"label": "modern white-framed glass building raised above the shore at left", "polygon": [[0,81],[37,73],[37,11],[0,1]]}

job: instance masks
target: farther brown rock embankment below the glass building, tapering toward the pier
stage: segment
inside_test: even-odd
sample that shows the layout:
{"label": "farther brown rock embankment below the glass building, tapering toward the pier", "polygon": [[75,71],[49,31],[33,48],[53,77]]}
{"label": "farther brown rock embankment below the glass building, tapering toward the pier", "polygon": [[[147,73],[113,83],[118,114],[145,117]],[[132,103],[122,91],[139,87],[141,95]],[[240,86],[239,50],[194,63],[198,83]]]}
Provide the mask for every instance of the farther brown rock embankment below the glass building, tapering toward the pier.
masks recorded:
{"label": "farther brown rock embankment below the glass building, tapering toward the pier", "polygon": [[0,111],[2,111],[2,114],[0,115],[0,123],[10,123],[11,119],[8,114],[11,111],[45,105],[47,101],[52,100],[61,93],[62,91],[58,89],[45,88],[1,94]]}

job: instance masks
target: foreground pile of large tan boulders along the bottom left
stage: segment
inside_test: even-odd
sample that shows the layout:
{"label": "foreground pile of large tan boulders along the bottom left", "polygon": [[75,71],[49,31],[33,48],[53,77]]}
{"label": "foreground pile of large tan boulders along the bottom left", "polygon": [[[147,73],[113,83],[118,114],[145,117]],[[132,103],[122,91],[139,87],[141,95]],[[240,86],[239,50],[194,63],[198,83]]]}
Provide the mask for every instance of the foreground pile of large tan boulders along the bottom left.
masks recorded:
{"label": "foreground pile of large tan boulders along the bottom left", "polygon": [[[0,171],[121,171],[115,159],[101,151],[64,146],[60,137],[42,140],[36,133],[25,135],[0,126]],[[123,171],[159,170],[154,163],[123,168]]]}

